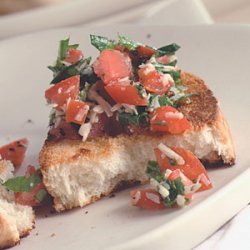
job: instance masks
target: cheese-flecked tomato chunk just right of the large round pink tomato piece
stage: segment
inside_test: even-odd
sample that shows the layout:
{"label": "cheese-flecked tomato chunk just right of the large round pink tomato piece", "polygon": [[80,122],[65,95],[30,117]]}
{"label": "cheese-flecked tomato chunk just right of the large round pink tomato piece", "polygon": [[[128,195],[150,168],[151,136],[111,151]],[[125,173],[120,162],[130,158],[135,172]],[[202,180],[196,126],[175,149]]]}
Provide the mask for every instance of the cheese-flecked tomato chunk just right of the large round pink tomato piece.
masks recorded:
{"label": "cheese-flecked tomato chunk just right of the large round pink tomato piece", "polygon": [[158,95],[165,94],[174,84],[171,78],[156,70],[148,72],[147,68],[141,68],[138,70],[138,75],[145,89]]}

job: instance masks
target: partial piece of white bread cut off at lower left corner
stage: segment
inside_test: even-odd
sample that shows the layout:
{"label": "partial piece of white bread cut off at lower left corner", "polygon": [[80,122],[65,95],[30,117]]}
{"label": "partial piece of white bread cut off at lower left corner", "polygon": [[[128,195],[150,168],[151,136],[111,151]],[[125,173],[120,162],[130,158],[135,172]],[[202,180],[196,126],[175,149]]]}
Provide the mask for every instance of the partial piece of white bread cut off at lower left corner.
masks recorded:
{"label": "partial piece of white bread cut off at lower left corner", "polygon": [[[13,177],[10,161],[0,161],[0,178]],[[34,212],[29,206],[15,203],[14,194],[0,186],[0,249],[16,245],[34,226]]]}

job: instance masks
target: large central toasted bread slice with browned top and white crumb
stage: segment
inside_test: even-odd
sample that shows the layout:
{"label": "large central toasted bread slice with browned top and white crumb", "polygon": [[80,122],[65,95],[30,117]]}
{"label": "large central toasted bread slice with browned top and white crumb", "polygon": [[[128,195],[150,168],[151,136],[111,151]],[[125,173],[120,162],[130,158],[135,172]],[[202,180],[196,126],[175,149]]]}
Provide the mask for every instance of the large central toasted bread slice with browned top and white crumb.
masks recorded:
{"label": "large central toasted bread slice with browned top and white crumb", "polygon": [[147,162],[154,159],[153,148],[160,142],[186,148],[210,164],[234,164],[230,131],[212,91],[190,73],[182,73],[181,79],[187,91],[196,94],[179,108],[192,125],[183,134],[121,134],[85,142],[48,138],[39,161],[57,211],[92,203],[120,183],[146,182]]}

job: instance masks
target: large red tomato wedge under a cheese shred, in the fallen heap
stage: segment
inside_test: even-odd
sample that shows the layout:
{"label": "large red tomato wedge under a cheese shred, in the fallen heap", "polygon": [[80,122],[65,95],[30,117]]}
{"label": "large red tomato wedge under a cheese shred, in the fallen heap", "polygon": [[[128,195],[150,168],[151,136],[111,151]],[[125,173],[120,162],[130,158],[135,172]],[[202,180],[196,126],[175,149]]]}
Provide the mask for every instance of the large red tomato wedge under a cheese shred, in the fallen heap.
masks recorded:
{"label": "large red tomato wedge under a cheese shred, in the fallen heap", "polygon": [[[185,163],[183,165],[175,165],[170,161],[170,159],[166,155],[164,155],[161,152],[160,149],[155,148],[154,151],[155,151],[156,159],[163,172],[165,172],[166,169],[170,169],[172,171],[176,169],[180,169],[182,173],[193,182],[195,182],[197,178],[201,175],[200,183],[202,184],[202,186],[200,187],[199,191],[207,190],[212,187],[212,183],[209,180],[205,167],[202,165],[199,159],[192,152],[190,152],[189,150],[186,150],[183,148],[177,148],[177,147],[171,147],[171,149],[175,151],[178,155],[180,155],[184,159]],[[203,181],[202,181],[202,177],[203,177]]]}

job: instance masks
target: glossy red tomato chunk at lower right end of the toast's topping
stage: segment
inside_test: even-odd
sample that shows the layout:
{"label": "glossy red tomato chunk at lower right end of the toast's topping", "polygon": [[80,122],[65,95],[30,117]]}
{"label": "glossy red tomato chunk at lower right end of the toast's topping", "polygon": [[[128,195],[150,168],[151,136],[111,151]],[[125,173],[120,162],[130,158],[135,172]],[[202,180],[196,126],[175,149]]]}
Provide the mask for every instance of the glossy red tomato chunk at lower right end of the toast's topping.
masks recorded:
{"label": "glossy red tomato chunk at lower right end of the toast's topping", "polygon": [[181,134],[190,128],[187,118],[171,106],[156,108],[150,115],[150,128],[152,131]]}

